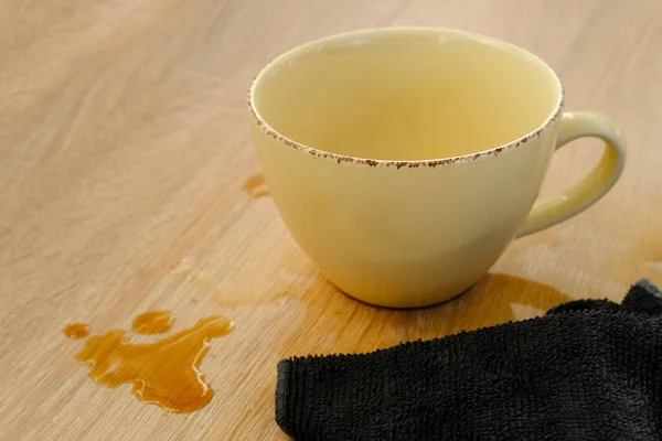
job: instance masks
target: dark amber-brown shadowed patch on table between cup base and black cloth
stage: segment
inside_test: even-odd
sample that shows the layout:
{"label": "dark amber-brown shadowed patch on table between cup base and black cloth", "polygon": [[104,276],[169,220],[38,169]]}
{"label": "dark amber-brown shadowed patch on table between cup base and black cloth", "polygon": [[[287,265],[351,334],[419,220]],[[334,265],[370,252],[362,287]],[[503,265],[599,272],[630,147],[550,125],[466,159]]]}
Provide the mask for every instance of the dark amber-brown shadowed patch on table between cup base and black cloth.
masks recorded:
{"label": "dark amber-brown shadowed patch on table between cup base and black cloth", "polygon": [[279,356],[366,353],[531,319],[570,300],[574,298],[540,282],[488,273],[448,302],[412,310],[386,309],[350,298],[319,275],[319,281],[301,295],[306,316],[299,331],[280,344]]}

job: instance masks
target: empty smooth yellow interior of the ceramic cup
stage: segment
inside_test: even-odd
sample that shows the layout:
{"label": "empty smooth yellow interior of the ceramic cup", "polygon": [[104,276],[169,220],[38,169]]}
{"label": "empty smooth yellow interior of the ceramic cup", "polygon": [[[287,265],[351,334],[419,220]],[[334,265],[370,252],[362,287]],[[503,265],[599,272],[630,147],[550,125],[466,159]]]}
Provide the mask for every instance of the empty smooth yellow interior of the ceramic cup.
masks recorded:
{"label": "empty smooth yellow interior of the ceramic cup", "polygon": [[289,51],[257,76],[253,111],[296,143],[353,158],[433,160],[526,137],[560,107],[556,74],[490,37],[367,30]]}

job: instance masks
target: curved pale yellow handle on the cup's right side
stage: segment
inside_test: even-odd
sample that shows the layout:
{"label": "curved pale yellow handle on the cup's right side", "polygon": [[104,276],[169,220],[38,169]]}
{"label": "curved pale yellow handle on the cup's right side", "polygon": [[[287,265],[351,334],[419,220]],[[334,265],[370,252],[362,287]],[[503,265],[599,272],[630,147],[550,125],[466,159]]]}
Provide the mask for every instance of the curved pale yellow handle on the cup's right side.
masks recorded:
{"label": "curved pale yellow handle on the cup's right side", "polygon": [[594,111],[563,114],[556,149],[585,137],[596,137],[605,141],[605,153],[600,162],[586,178],[565,192],[536,201],[517,232],[517,237],[540,232],[573,217],[592,205],[616,184],[626,164],[626,141],[620,129],[609,117]]}

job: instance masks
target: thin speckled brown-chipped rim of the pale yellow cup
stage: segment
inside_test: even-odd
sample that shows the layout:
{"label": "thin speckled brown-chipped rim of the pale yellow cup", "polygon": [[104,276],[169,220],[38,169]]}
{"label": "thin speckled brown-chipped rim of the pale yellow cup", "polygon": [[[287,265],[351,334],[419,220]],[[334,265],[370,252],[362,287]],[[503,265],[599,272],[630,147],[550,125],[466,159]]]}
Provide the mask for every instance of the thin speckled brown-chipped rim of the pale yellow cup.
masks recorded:
{"label": "thin speckled brown-chipped rim of the pale yellow cup", "polygon": [[[268,71],[270,71],[271,67],[277,65],[279,62],[281,62],[288,57],[291,57],[298,53],[306,52],[310,47],[316,46],[318,44],[331,43],[333,41],[339,41],[339,40],[351,37],[351,36],[373,35],[373,34],[378,34],[378,33],[406,32],[406,31],[441,32],[441,33],[457,34],[457,35],[461,35],[465,37],[478,40],[478,41],[481,41],[484,43],[490,43],[490,44],[493,44],[496,46],[501,46],[504,49],[509,49],[511,51],[515,51],[515,52],[531,58],[533,62],[538,63],[545,69],[547,69],[548,73],[552,75],[552,77],[556,82],[556,86],[557,86],[557,90],[558,90],[558,98],[557,98],[554,109],[537,128],[533,129],[532,131],[530,131],[528,133],[525,133],[524,136],[522,136],[520,138],[509,141],[506,143],[490,148],[488,150],[481,150],[480,152],[476,152],[476,153],[467,153],[467,154],[446,157],[446,158],[420,159],[420,160],[372,159],[372,158],[350,157],[346,154],[328,152],[328,151],[320,150],[320,149],[317,149],[317,148],[313,148],[310,146],[302,144],[300,142],[297,142],[297,141],[279,133],[271,126],[269,126],[267,123],[267,121],[265,121],[265,119],[259,115],[259,111],[257,110],[257,106],[255,105],[255,100],[254,100],[255,88],[256,88],[257,84],[260,82],[260,79],[263,78],[263,76],[266,75],[266,73]],[[395,166],[396,169],[401,169],[401,168],[413,169],[413,168],[419,168],[419,166],[436,168],[436,166],[444,166],[444,165],[452,165],[452,164],[462,163],[462,162],[480,161],[480,160],[485,160],[490,157],[498,157],[500,153],[503,153],[504,151],[516,149],[520,146],[525,144],[530,140],[538,137],[547,127],[549,127],[554,121],[556,121],[558,119],[558,117],[562,114],[563,106],[564,106],[564,99],[565,99],[564,95],[565,95],[564,87],[563,87],[563,83],[562,83],[560,78],[558,77],[556,72],[544,60],[542,60],[540,56],[535,55],[534,53],[532,53],[516,44],[510,43],[505,40],[500,40],[500,39],[496,39],[493,36],[484,35],[484,34],[480,34],[480,33],[476,33],[476,32],[450,29],[450,28],[383,26],[383,28],[365,28],[365,29],[359,29],[359,30],[354,30],[354,31],[330,34],[327,36],[322,36],[320,39],[308,41],[307,43],[300,44],[298,46],[289,49],[288,51],[280,53],[279,55],[274,57],[269,63],[267,63],[257,73],[257,75],[255,75],[255,77],[253,78],[253,82],[250,84],[250,87],[248,88],[247,98],[248,98],[248,108],[249,108],[250,115],[252,115],[255,123],[258,126],[258,128],[263,132],[265,132],[267,136],[276,139],[277,141],[282,142],[284,144],[286,144],[290,148],[309,153],[313,157],[337,161],[339,164],[341,162],[349,162],[349,163],[353,163],[353,164],[357,164],[357,165]]]}

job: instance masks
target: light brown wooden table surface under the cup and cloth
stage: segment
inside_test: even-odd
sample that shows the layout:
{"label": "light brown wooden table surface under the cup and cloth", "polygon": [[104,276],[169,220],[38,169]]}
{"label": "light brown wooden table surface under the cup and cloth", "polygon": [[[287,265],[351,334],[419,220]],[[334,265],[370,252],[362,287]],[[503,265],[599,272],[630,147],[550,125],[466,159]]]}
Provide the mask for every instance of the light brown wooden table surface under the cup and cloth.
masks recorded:
{"label": "light brown wooden table surface under the cup and cloth", "polygon": [[[629,142],[617,186],[584,214],[516,240],[471,291],[435,308],[361,304],[288,235],[248,130],[247,87],[310,39],[391,24],[520,44]],[[354,353],[531,318],[579,298],[662,284],[662,2],[638,0],[24,0],[0,4],[0,439],[284,439],[276,363]],[[597,141],[554,159],[544,193],[583,176]],[[168,413],[97,385],[93,334],[171,310],[235,331],[201,370],[215,390]],[[148,337],[141,337],[149,341]],[[158,338],[158,337],[154,337]],[[153,340],[153,338],[152,338]]]}

